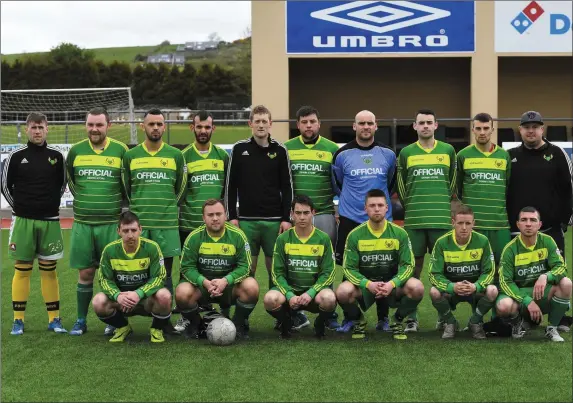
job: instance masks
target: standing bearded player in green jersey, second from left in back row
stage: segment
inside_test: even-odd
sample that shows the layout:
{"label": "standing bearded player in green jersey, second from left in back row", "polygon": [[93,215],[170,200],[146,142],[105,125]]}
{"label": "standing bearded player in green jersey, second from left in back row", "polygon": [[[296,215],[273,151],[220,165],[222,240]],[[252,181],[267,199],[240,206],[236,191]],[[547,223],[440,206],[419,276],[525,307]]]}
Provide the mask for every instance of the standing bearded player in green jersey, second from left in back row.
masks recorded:
{"label": "standing bearded player in green jersey, second from left in back row", "polygon": [[[74,144],[66,158],[68,184],[74,196],[70,267],[78,270],[78,318],[70,335],[88,331],[87,315],[93,297],[95,271],[103,248],[118,239],[123,187],[121,161],[127,146],[107,137],[109,114],[93,108],[86,116],[88,138]],[[107,329],[106,334],[111,334]]]}

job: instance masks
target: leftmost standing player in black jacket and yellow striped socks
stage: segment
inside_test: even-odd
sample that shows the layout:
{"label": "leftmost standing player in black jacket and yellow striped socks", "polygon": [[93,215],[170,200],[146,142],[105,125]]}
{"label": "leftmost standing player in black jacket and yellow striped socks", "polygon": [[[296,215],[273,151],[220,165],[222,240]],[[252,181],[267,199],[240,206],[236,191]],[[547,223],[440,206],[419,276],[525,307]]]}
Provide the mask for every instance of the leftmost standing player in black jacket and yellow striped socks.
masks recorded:
{"label": "leftmost standing player in black jacket and yellow striped socks", "polygon": [[60,198],[66,188],[63,154],[46,141],[48,119],[32,112],[26,118],[28,142],[8,155],[2,169],[2,194],[12,207],[8,254],[14,262],[10,334],[24,333],[34,259],[38,259],[48,330],[67,333],[60,319],[60,286],[56,264],[64,254]]}

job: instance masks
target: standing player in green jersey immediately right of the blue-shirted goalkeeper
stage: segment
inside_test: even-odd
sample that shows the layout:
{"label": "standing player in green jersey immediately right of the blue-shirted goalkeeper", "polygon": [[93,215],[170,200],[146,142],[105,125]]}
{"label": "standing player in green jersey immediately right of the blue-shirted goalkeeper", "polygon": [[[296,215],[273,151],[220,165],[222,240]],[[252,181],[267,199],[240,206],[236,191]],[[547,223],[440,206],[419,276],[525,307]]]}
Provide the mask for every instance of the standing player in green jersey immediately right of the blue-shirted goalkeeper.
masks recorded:
{"label": "standing player in green jersey immediately right of the blue-shirted goalkeeper", "polygon": [[[438,141],[436,114],[429,109],[416,113],[413,124],[418,141],[402,149],[398,156],[398,196],[404,207],[404,229],[412,242],[416,260],[414,277],[420,278],[424,256],[432,253],[436,240],[451,227],[451,200],[456,187],[456,152],[450,144]],[[406,322],[406,332],[418,331],[414,312]]]}

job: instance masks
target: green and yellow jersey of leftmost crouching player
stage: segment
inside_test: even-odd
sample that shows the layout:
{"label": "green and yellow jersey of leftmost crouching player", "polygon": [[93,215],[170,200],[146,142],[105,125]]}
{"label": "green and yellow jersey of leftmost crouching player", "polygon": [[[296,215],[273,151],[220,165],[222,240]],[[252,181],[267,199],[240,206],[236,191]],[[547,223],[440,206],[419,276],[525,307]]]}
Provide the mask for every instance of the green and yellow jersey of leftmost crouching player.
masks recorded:
{"label": "green and yellow jersey of leftmost crouching player", "polygon": [[150,297],[163,288],[165,277],[161,249],[147,238],[139,238],[134,253],[125,251],[121,239],[108,244],[102,252],[99,285],[114,301],[123,291],[135,291],[140,298]]}

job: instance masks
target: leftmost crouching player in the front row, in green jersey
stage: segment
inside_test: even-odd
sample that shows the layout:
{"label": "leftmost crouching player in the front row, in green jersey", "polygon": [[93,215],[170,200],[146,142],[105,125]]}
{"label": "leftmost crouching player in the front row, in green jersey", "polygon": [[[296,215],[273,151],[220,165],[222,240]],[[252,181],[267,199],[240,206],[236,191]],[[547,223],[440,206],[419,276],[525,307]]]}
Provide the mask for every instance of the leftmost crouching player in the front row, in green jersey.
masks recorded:
{"label": "leftmost crouching player in the front row, in green jersey", "polygon": [[166,270],[159,245],[141,236],[137,215],[121,213],[117,232],[121,239],[108,244],[101,256],[98,280],[103,292],[92,305],[98,318],[115,329],[112,343],[132,333],[126,316],[153,316],[152,343],[162,343],[171,316],[171,293],[164,287]]}

